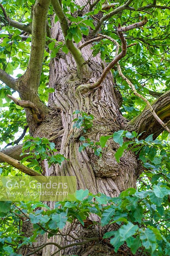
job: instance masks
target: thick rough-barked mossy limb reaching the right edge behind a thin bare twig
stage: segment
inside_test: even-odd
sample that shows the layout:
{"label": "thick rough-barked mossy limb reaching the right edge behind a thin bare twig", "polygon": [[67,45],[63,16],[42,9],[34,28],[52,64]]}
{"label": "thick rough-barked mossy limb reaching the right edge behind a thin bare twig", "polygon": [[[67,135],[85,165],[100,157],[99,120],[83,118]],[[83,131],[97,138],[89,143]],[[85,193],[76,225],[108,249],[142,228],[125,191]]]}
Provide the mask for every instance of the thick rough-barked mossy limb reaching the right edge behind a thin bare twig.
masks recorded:
{"label": "thick rough-barked mossy limb reaching the right edge behind a thin bare twig", "polygon": [[[170,90],[161,95],[158,100],[151,104],[151,106],[156,115],[159,116],[162,122],[166,123],[165,125],[167,125],[169,129],[170,126],[168,125],[168,121],[170,121]],[[130,120],[126,129],[129,131],[136,131],[138,133],[145,131],[142,135],[144,137],[153,133],[154,138],[164,130],[163,126],[158,123],[148,107],[146,107],[138,116]]]}

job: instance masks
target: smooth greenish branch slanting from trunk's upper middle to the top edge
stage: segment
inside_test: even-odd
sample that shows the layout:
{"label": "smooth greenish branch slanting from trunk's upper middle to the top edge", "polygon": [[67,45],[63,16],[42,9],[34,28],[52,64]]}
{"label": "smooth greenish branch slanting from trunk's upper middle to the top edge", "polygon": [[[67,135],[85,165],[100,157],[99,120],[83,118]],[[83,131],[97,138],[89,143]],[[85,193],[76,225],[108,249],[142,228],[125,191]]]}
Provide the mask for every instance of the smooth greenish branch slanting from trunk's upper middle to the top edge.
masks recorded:
{"label": "smooth greenish branch slanting from trunk's upper middle to the top edge", "polygon": [[76,61],[78,70],[80,70],[81,67],[85,63],[85,60],[84,60],[80,50],[73,44],[73,41],[69,40],[67,38],[67,30],[69,29],[67,18],[65,16],[63,9],[58,0],[52,0],[51,4],[53,6],[55,14],[58,17],[59,22],[60,22],[60,26],[61,26],[61,29],[63,32],[65,44],[66,44],[67,48],[69,49],[71,55],[73,56],[74,60]]}

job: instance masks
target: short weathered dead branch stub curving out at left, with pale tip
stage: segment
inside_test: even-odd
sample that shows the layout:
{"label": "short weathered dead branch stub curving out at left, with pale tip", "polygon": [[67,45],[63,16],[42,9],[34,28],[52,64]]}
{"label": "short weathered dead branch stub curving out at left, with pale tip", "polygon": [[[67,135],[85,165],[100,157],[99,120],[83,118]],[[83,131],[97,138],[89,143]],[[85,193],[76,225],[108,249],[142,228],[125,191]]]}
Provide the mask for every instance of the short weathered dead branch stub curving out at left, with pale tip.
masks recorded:
{"label": "short weathered dead branch stub curving out at left, with pale tip", "polygon": [[42,122],[43,120],[43,116],[40,115],[40,112],[37,108],[37,106],[29,101],[29,100],[17,100],[16,98],[12,97],[11,95],[7,95],[8,98],[10,98],[11,100],[13,100],[15,102],[16,105],[22,107],[22,108],[27,108],[31,114],[31,116],[33,116],[33,119],[36,123]]}

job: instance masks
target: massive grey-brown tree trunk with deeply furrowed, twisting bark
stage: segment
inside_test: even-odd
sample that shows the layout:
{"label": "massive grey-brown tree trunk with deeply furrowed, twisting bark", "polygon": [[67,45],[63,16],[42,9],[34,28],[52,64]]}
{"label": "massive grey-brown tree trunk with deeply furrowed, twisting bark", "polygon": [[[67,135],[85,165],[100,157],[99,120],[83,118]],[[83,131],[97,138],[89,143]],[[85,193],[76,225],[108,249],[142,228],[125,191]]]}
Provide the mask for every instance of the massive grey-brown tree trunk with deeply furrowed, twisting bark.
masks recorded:
{"label": "massive grey-brown tree trunk with deeply furrowed, twisting bark", "polygon": [[[61,28],[54,22],[54,15],[51,18],[52,38],[57,41],[63,40]],[[82,44],[87,40],[83,38]],[[82,49],[85,60],[91,56],[91,44]],[[131,151],[127,151],[120,159],[120,163],[115,160],[115,152],[119,147],[113,140],[108,141],[107,149],[104,150],[102,157],[94,156],[91,150],[78,151],[81,142],[81,135],[98,141],[100,136],[111,135],[113,132],[121,130],[127,123],[119,110],[121,96],[116,92],[113,84],[113,76],[110,72],[102,86],[91,93],[82,94],[77,90],[78,86],[85,83],[95,82],[103,70],[100,54],[89,60],[90,71],[85,70],[78,76],[73,58],[69,54],[58,53],[50,62],[49,87],[55,89],[55,93],[49,95],[48,107],[50,115],[45,116],[41,125],[36,129],[31,129],[31,135],[34,137],[51,137],[61,131],[62,135],[54,140],[58,150],[69,161],[64,161],[61,166],[55,168],[44,165],[44,174],[46,176],[76,176],[78,189],[88,188],[90,192],[104,193],[107,196],[118,196],[121,191],[136,187],[136,180],[139,176],[140,164],[137,157]],[[105,65],[105,64],[104,64]],[[85,134],[80,130],[73,128],[72,120],[75,118],[72,114],[78,109],[94,116],[92,128]],[[51,208],[54,206],[51,203]],[[99,221],[94,215],[91,215],[92,221]],[[63,232],[67,232],[69,225]],[[77,223],[72,232],[77,236],[103,236],[103,229],[95,225],[93,230],[82,228]],[[57,242],[66,245],[68,242],[63,238],[44,237],[44,242]],[[94,242],[83,246],[74,246],[65,251],[60,251],[56,255],[113,255],[113,248],[110,249],[109,243],[94,244]],[[57,248],[54,245],[48,245],[43,248],[43,256],[52,255]]]}

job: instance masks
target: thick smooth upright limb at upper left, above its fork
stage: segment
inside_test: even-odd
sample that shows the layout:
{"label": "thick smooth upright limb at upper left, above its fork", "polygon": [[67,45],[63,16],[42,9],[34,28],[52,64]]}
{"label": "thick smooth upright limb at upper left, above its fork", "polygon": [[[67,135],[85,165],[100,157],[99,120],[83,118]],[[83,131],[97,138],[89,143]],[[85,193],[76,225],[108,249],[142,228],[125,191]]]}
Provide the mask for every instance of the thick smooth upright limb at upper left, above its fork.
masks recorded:
{"label": "thick smooth upright limb at upper left, above its fork", "polygon": [[42,62],[46,43],[46,25],[50,0],[36,0],[33,6],[31,52],[26,70],[30,89],[37,90],[40,84]]}

